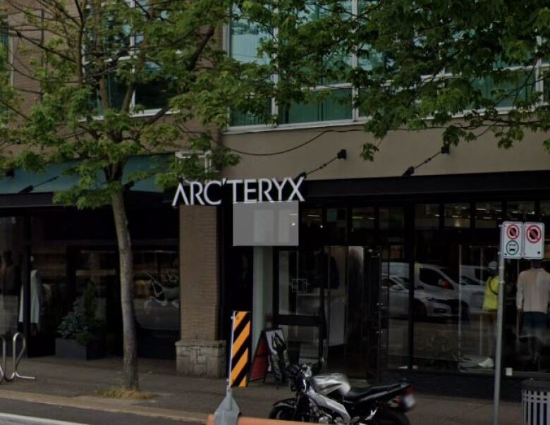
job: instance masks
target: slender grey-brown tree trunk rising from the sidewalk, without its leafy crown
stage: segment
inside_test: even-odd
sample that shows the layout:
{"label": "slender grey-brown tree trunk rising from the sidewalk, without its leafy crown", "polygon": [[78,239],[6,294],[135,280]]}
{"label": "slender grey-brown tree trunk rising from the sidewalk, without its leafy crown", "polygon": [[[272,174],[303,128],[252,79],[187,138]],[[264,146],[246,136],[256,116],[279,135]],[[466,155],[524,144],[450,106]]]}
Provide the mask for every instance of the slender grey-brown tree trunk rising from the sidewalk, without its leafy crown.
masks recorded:
{"label": "slender grey-brown tree trunk rising from the sidewalk, without its leafy crown", "polygon": [[121,269],[124,387],[128,390],[138,390],[138,344],[135,331],[133,253],[122,190],[111,195],[111,202]]}

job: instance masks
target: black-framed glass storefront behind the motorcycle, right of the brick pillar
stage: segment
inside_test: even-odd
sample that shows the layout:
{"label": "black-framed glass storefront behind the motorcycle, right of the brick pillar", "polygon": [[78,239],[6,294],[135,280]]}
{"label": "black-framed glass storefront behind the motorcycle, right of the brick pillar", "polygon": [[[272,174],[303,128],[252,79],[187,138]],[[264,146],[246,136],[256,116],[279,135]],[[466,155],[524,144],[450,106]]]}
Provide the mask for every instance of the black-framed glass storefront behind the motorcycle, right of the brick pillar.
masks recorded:
{"label": "black-framed glass storefront behind the motorcycle, right of the brick pillar", "polygon": [[[223,315],[250,308],[256,339],[261,328],[280,326],[291,360],[324,357],[329,370],[351,376],[492,375],[496,314],[484,309],[484,296],[499,223],[544,221],[542,266],[550,270],[549,178],[533,171],[307,181],[298,247],[226,243],[224,264],[233,266],[222,285],[241,292],[226,296]],[[518,274],[529,268],[506,262],[507,376],[550,372],[548,320],[533,353],[517,312]]]}

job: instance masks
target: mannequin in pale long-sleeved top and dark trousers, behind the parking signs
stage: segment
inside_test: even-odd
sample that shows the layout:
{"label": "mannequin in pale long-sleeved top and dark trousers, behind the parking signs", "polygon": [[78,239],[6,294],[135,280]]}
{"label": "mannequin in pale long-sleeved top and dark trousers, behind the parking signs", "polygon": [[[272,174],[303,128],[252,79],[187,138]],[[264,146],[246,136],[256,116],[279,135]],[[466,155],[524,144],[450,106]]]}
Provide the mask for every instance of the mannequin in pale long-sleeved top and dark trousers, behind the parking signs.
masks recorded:
{"label": "mannequin in pale long-sleeved top and dark trousers, behind the parking signs", "polygon": [[532,260],[530,269],[518,276],[516,305],[523,317],[523,333],[529,336],[530,361],[537,364],[540,359],[542,338],[548,326],[548,302],[550,294],[550,273],[542,269],[540,260]]}

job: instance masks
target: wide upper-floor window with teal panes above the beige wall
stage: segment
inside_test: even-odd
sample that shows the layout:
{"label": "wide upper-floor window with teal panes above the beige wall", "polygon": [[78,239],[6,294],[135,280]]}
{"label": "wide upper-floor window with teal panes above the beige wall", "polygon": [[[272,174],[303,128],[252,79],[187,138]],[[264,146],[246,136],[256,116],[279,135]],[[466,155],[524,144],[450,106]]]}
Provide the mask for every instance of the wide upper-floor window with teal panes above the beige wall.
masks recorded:
{"label": "wide upper-floor window with teal panes above the beige wall", "polygon": [[[341,13],[342,16],[349,16],[350,19],[357,19],[359,22],[364,19],[368,13],[368,8],[372,2],[367,0],[341,0],[335,2],[307,2],[304,9],[296,11],[295,16],[291,16],[288,22],[292,25],[282,25],[281,28],[262,29],[257,23],[245,20],[235,8],[236,16],[233,18],[230,26],[230,37],[228,38],[227,49],[231,56],[241,62],[259,62],[267,63],[268,58],[259,57],[259,49],[262,39],[274,37],[278,48],[284,45],[285,37],[292,37],[295,27],[307,25],[329,16],[329,13]],[[336,6],[335,6],[336,5]],[[293,26],[294,25],[294,26]],[[456,37],[460,38],[463,32],[457,32]],[[372,40],[371,40],[372,41]],[[413,44],[417,49],[427,50],[427,37],[418,35],[414,37]],[[543,39],[542,43],[546,41]],[[290,43],[291,44],[291,43]],[[375,44],[375,43],[374,43]],[[350,49],[353,50],[350,52]],[[342,50],[342,51],[340,51]],[[452,51],[452,49],[451,49]],[[365,99],[367,90],[357,84],[354,87],[349,81],[353,80],[350,73],[351,68],[361,69],[363,71],[372,71],[377,69],[389,69],[396,67],[397,58],[393,58],[389,53],[375,51],[369,44],[349,47],[345,51],[336,46],[330,57],[324,58],[323,62],[326,75],[319,75],[314,78],[318,87],[314,87],[314,92],[319,90],[328,90],[329,94],[293,94],[296,99],[290,99],[287,104],[278,106],[275,99],[265,99],[269,109],[266,115],[276,116],[277,123],[285,124],[307,124],[319,121],[351,121],[358,118],[365,119],[366,111],[361,108],[362,100]],[[534,64],[537,62],[536,64]],[[527,63],[532,63],[527,66]],[[274,78],[282,84],[286,82],[286,69],[279,63],[279,74]],[[419,64],[420,66],[420,64]],[[316,64],[312,65],[317,68]],[[319,68],[321,68],[319,66]],[[548,58],[542,58],[539,61],[532,61],[532,55],[525,54],[525,58],[503,57],[495,61],[494,68],[502,70],[502,73],[487,78],[475,78],[465,80],[460,70],[451,66],[443,70],[434,70],[428,64],[425,65],[427,76],[434,74],[434,90],[451,89],[453,87],[460,90],[460,87],[471,85],[471,98],[467,104],[460,104],[457,101],[456,114],[472,110],[484,111],[496,106],[500,111],[508,111],[512,108],[529,108],[532,104],[539,101],[549,101],[550,99],[550,61]],[[292,73],[296,73],[292,70]],[[491,74],[492,75],[492,74]],[[289,79],[292,79],[289,77]],[[357,79],[356,79],[357,80]],[[311,81],[310,81],[311,83]],[[311,83],[311,86],[314,84]],[[310,87],[304,88],[304,92],[310,90]],[[283,91],[283,90],[281,90]],[[542,92],[543,96],[540,96]],[[280,101],[280,99],[277,99]],[[420,102],[419,102],[420,103]],[[232,112],[232,125],[259,125],[267,123],[265,117],[252,116],[249,113]]]}

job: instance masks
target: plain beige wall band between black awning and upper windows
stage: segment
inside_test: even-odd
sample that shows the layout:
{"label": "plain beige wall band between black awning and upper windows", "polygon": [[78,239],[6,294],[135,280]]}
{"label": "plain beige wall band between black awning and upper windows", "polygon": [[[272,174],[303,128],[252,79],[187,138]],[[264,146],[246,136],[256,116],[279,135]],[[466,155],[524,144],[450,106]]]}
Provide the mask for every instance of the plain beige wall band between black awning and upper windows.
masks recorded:
{"label": "plain beige wall band between black awning and upper windows", "polygon": [[[334,130],[361,130],[355,127],[333,127]],[[259,133],[226,134],[224,144],[245,152],[276,152],[295,147],[318,135],[326,128],[303,130],[271,130]],[[258,178],[295,176],[310,171],[336,156],[339,149],[347,149],[346,161],[334,161],[308,179],[372,178],[402,175],[409,166],[420,164],[441,148],[441,131],[393,132],[379,144],[380,152],[372,162],[360,157],[362,144],[378,143],[364,131],[326,133],[314,142],[293,152],[276,156],[241,155],[238,166],[224,170],[228,178]],[[527,133],[525,140],[511,149],[501,149],[489,132],[470,143],[451,147],[451,154],[437,156],[429,164],[417,169],[415,175],[456,173],[491,173],[499,171],[532,171],[550,168],[550,154],[542,146],[545,136]]]}

